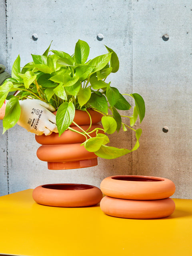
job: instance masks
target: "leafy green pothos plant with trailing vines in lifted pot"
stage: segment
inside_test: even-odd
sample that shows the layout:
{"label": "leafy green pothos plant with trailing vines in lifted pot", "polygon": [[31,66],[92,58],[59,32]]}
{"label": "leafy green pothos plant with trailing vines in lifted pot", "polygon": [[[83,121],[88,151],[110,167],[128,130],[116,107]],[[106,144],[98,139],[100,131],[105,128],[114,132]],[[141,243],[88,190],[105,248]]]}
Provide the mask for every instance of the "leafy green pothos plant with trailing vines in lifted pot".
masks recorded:
{"label": "leafy green pothos plant with trailing vines in lifted pot", "polygon": [[[32,54],[33,61],[22,69],[20,68],[20,56],[18,56],[12,66],[12,78],[8,78],[0,86],[0,107],[5,99],[8,100],[3,120],[3,133],[13,127],[20,117],[19,100],[39,99],[56,108],[59,136],[66,129],[83,134],[85,142],[82,145],[97,156],[112,159],[136,150],[139,147],[142,130],[140,128],[135,130],[132,127],[138,116],[142,122],[145,104],[139,94],[121,94],[111,82],[106,82],[106,78],[119,69],[116,53],[105,46],[108,53],[87,60],[90,47],[82,40],[78,40],[72,55],[59,50],[50,50],[50,46],[42,55]],[[14,91],[19,91],[19,93],[16,96],[8,96],[9,92]],[[127,111],[131,108],[125,95],[132,97],[135,102],[131,116],[121,115],[122,111],[119,111]],[[70,127],[70,124],[74,123],[75,110],[79,109],[88,113],[88,108],[102,113],[102,130],[105,134],[100,133],[101,128],[96,128],[91,132],[89,129],[82,130],[81,128],[79,132]],[[122,122],[122,117],[127,118],[128,124]],[[136,134],[136,144],[132,150],[106,146],[110,142],[106,134],[119,132],[121,127],[124,131],[131,129]],[[91,133],[95,131],[96,136],[92,137]]]}

